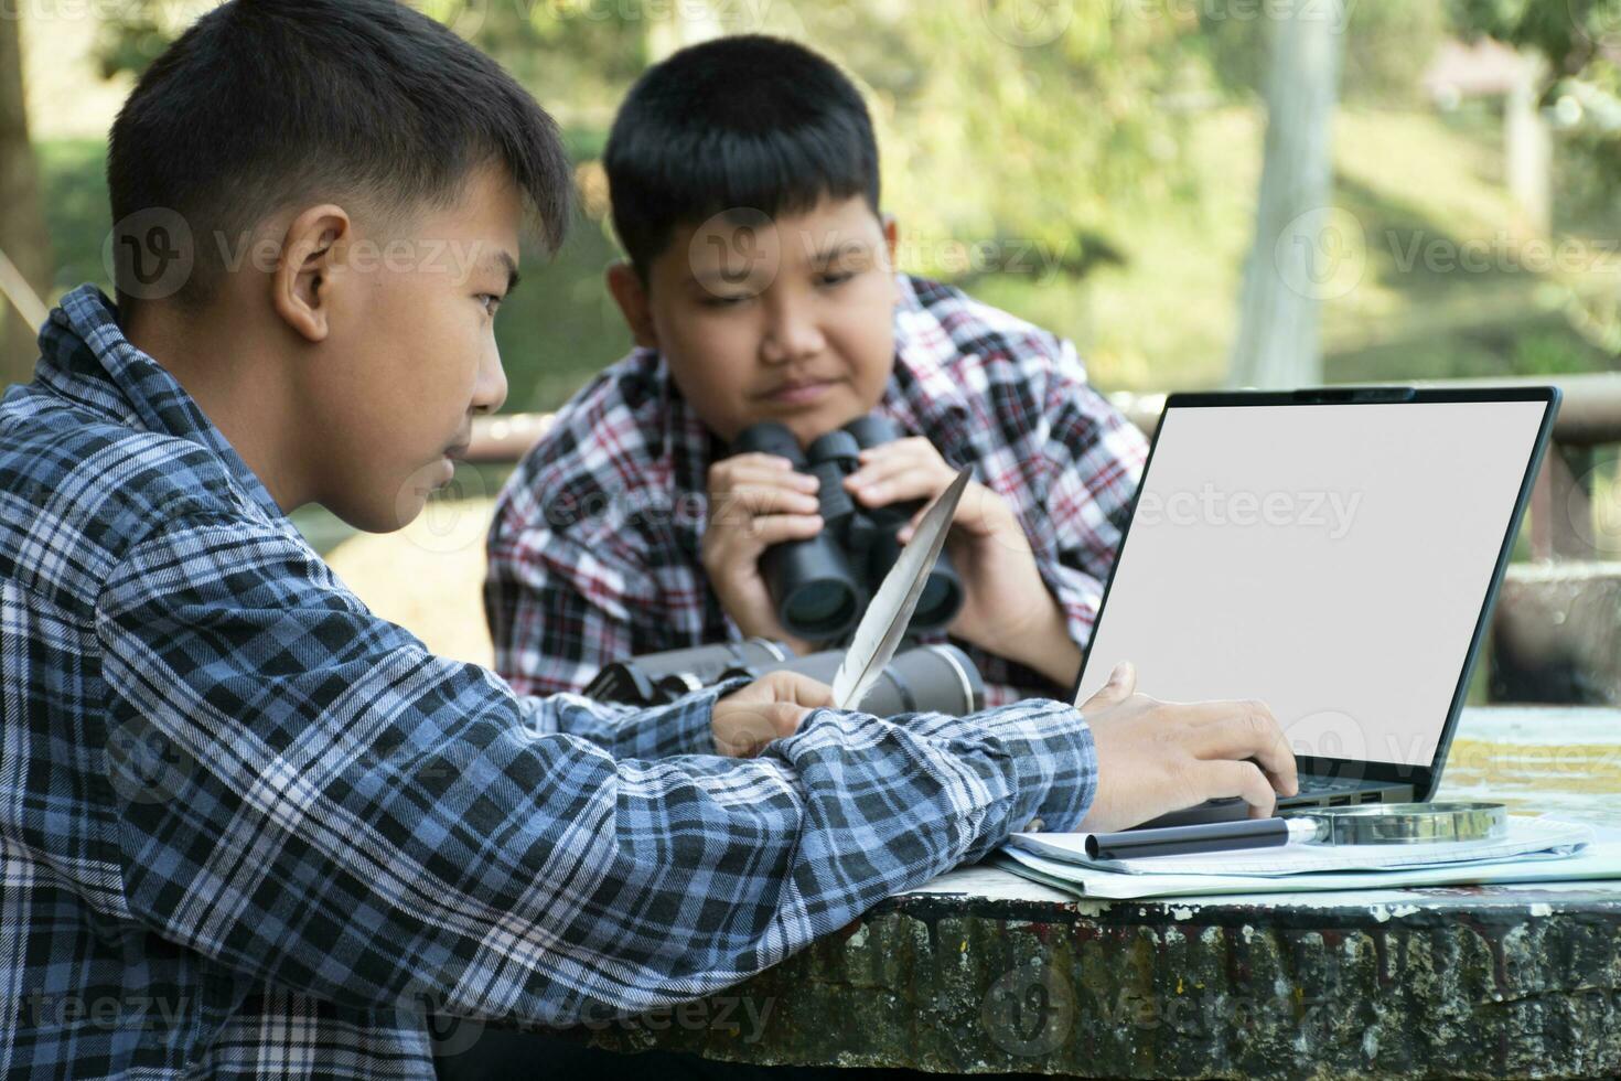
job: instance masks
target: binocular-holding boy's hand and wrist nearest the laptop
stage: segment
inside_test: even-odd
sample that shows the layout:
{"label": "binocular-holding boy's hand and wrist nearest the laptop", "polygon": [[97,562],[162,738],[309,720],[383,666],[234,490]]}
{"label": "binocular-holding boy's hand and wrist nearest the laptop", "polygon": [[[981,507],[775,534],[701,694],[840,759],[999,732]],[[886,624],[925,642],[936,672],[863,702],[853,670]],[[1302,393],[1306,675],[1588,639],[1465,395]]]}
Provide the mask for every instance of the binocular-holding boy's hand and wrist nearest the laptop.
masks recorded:
{"label": "binocular-holding boy's hand and wrist nearest the laptop", "polygon": [[[866,507],[934,499],[956,480],[956,470],[932,442],[896,439],[861,452],[861,468],[845,486]],[[922,517],[901,532],[901,543]],[[1081,652],[1070,639],[1063,609],[1047,590],[1029,538],[1007,499],[969,483],[952,517],[952,559],[963,579],[963,611],[948,630],[987,653],[1020,661],[1057,684],[1070,684]]]}

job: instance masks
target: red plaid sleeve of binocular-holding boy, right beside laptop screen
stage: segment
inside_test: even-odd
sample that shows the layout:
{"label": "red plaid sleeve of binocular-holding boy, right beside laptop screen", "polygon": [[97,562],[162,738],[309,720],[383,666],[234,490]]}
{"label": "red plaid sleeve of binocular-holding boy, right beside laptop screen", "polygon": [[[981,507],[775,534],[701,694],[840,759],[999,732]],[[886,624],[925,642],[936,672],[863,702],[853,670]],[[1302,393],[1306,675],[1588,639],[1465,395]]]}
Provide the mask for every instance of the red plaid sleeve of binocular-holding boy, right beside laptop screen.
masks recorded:
{"label": "red plaid sleeve of binocular-holding boy, right beside laptop screen", "polygon": [[1120,551],[1148,439],[1086,382],[1075,347],[1062,342],[1046,395],[1049,486],[1044,522],[1026,530],[1036,562],[1083,650]]}

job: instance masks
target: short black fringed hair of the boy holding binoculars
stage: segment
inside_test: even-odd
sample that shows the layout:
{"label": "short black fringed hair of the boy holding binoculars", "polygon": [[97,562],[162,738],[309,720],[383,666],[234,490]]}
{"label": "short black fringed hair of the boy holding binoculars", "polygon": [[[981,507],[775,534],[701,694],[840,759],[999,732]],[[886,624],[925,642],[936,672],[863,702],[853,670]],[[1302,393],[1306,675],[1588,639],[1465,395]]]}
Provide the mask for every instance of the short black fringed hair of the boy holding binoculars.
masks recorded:
{"label": "short black fringed hair of the boy holding binoculars", "polygon": [[603,154],[614,232],[642,280],[681,225],[823,196],[879,209],[879,147],[856,86],[804,45],[746,34],[648,68]]}

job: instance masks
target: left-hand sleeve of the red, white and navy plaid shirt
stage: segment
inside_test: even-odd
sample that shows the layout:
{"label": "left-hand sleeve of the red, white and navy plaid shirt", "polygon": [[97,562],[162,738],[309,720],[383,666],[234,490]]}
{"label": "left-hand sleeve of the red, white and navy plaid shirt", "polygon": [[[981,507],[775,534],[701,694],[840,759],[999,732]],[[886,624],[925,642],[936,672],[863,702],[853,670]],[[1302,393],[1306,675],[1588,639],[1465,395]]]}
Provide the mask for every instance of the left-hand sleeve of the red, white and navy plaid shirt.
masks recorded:
{"label": "left-hand sleeve of the red, white and navy plaid shirt", "polygon": [[580,545],[499,512],[486,546],[485,617],[496,671],[522,694],[580,690],[635,650],[635,613],[658,603],[650,575],[614,545]]}

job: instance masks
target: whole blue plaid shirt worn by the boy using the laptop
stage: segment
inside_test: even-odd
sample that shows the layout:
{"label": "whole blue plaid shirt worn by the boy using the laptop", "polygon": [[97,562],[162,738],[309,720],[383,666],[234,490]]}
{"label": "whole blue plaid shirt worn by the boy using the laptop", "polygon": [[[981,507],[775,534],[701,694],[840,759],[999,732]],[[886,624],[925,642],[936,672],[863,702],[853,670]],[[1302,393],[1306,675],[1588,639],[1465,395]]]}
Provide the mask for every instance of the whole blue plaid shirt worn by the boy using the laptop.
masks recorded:
{"label": "whole blue plaid shirt worn by the boy using the laptop", "polygon": [[738,982],[1091,804],[1086,723],[520,697],[366,611],[94,287],[0,402],[0,1073],[431,1078]]}

